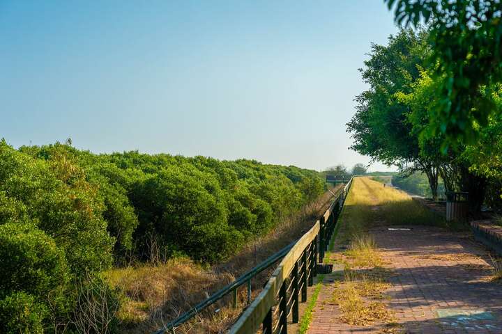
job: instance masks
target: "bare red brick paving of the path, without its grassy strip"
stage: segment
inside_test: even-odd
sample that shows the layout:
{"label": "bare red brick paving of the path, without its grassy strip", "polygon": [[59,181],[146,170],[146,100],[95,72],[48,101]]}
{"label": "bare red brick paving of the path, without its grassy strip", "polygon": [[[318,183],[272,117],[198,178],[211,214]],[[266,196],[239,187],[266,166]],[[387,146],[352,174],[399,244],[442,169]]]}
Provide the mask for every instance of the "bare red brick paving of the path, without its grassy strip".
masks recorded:
{"label": "bare red brick paving of the path, without its grassy strip", "polygon": [[393,270],[386,294],[399,328],[341,324],[325,280],[308,333],[502,333],[502,285],[489,281],[485,250],[468,234],[404,228],[370,231]]}

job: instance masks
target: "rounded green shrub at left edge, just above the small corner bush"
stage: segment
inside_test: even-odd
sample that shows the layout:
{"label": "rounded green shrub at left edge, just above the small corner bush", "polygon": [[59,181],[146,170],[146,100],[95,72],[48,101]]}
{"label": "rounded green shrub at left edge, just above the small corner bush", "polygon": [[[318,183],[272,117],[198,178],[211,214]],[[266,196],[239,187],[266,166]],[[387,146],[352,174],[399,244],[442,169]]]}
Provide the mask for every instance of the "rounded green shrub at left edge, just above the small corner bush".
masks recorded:
{"label": "rounded green shrub at left edge, just above the small corner bush", "polygon": [[[29,223],[0,225],[0,263],[0,317],[17,319],[14,322],[19,326],[33,326],[26,333],[39,333],[38,323],[47,320],[43,310],[52,306],[65,312],[70,303],[70,271],[54,239]],[[8,333],[25,333],[17,325],[5,326]]]}

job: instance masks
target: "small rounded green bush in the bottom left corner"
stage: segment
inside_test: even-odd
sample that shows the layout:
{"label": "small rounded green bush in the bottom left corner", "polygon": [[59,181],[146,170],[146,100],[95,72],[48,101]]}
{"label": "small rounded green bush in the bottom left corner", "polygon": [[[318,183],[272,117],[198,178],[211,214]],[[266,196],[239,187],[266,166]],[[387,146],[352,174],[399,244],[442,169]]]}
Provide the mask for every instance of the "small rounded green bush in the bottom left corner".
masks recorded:
{"label": "small rounded green bush in the bottom left corner", "polygon": [[47,309],[24,292],[13,292],[0,300],[0,333],[40,334]]}

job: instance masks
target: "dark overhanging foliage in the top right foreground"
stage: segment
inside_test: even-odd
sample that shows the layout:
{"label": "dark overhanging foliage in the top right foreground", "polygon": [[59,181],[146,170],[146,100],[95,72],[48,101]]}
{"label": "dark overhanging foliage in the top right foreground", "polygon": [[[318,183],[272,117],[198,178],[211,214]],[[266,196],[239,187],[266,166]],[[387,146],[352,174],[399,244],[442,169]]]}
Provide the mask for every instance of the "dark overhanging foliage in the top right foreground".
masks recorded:
{"label": "dark overhanging foliage in the top right foreground", "polygon": [[489,97],[502,81],[501,1],[385,0],[398,24],[427,24],[432,52],[428,63],[439,82],[429,135],[450,145],[473,143],[478,125],[501,110]]}

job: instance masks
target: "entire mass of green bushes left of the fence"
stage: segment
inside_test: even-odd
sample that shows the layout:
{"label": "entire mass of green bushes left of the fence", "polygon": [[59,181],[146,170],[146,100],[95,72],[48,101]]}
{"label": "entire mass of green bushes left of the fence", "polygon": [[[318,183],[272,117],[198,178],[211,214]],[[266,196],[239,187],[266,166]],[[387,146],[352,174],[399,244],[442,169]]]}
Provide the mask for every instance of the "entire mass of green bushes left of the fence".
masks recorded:
{"label": "entire mass of green bushes left of the fence", "polygon": [[0,333],[112,333],[113,321],[86,328],[91,301],[118,303],[100,271],[225,260],[324,191],[294,166],[69,144],[0,141]]}

